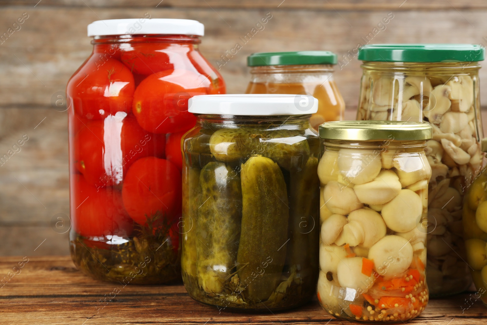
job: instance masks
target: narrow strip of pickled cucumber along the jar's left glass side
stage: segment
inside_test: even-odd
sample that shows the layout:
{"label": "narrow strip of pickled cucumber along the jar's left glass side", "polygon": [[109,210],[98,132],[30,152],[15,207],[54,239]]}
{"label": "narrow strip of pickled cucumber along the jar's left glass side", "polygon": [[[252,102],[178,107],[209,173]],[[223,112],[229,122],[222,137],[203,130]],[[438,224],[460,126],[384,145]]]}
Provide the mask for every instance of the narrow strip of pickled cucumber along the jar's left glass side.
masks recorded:
{"label": "narrow strip of pickled cucumber along the jar's left glass side", "polygon": [[196,277],[196,220],[200,198],[200,169],[186,167],[183,172],[183,222],[181,223],[181,268]]}

